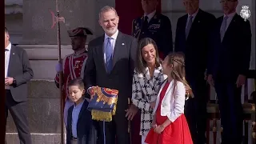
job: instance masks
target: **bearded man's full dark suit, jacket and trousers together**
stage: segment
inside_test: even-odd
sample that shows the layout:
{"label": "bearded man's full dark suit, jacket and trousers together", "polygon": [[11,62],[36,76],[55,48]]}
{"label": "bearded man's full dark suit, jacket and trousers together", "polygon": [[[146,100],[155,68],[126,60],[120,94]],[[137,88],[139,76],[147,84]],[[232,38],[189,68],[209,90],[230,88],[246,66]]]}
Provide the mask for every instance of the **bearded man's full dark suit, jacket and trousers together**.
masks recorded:
{"label": "bearded man's full dark suit, jacket and trousers together", "polygon": [[[105,36],[102,35],[89,43],[84,76],[86,90],[91,86],[118,90],[116,115],[112,122],[99,122],[101,130],[99,141],[104,143],[105,139],[106,144],[113,144],[117,139],[117,144],[128,144],[128,121],[125,110],[128,109],[128,98],[131,97],[134,60],[138,42],[130,35],[118,31],[114,46],[113,69],[107,73],[103,52],[104,38]],[[103,130],[105,130],[104,133]]]}

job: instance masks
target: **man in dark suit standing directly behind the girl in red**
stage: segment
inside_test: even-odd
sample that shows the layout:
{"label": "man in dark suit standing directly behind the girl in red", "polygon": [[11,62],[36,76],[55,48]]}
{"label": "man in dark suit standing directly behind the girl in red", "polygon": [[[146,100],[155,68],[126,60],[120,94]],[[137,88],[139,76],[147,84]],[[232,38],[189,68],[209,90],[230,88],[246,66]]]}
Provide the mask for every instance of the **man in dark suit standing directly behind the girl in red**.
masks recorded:
{"label": "man in dark suit standing directly behind the girl in red", "polygon": [[187,14],[178,18],[175,51],[182,51],[186,59],[186,80],[194,98],[186,102],[185,114],[195,144],[206,142],[206,80],[207,50],[210,46],[210,29],[215,20],[213,14],[199,9],[198,0],[184,0]]}

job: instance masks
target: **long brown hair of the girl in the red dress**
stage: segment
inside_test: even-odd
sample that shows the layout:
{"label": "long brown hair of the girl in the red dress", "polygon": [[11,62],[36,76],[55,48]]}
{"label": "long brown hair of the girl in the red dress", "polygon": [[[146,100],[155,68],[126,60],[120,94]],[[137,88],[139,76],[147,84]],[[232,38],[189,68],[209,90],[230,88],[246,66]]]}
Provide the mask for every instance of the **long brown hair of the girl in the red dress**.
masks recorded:
{"label": "long brown hair of the girl in the red dress", "polygon": [[[187,90],[192,92],[190,85],[186,82],[185,74],[185,58],[182,53],[170,53],[168,54],[168,63],[167,65],[173,65],[173,70],[170,72],[171,77],[174,79],[174,91],[177,86],[177,82],[182,82]],[[189,94],[190,97],[193,94]]]}

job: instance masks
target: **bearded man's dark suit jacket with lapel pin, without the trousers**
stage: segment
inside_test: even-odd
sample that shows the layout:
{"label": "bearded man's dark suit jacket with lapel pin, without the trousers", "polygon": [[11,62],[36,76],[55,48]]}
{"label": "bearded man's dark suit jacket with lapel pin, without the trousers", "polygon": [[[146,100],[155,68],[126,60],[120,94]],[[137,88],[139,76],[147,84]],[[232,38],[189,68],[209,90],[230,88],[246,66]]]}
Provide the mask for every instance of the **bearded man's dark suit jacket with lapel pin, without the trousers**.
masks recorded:
{"label": "bearded man's dark suit jacket with lapel pin, without the trousers", "polygon": [[128,98],[131,97],[134,60],[136,57],[137,40],[130,35],[118,32],[114,46],[113,70],[106,72],[104,60],[104,38],[102,35],[89,43],[86,61],[85,84],[118,90],[117,113],[125,117]]}

